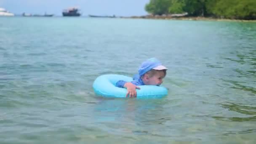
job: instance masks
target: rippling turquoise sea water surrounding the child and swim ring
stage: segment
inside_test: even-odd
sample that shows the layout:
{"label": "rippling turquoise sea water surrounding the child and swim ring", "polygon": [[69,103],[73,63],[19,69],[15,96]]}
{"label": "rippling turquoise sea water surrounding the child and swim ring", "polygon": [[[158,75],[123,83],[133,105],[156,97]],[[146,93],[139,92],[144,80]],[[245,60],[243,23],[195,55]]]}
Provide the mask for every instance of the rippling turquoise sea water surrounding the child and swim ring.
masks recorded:
{"label": "rippling turquoise sea water surrounding the child and swim ring", "polygon": [[[104,99],[103,74],[168,67],[163,99]],[[0,143],[256,143],[256,23],[0,17]]]}

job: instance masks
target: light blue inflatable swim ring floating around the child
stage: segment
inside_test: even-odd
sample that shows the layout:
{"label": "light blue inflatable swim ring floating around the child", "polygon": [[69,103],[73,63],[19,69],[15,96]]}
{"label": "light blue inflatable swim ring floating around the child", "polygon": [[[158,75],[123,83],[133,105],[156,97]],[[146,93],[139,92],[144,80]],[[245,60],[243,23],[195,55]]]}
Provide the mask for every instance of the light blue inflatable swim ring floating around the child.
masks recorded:
{"label": "light blue inflatable swim ring floating around the child", "polygon": [[[124,75],[101,75],[93,83],[93,90],[97,96],[125,98],[126,88],[115,86],[117,81],[124,80],[131,82],[133,79]],[[168,94],[168,90],[162,86],[140,85],[137,89],[137,98],[162,98]]]}

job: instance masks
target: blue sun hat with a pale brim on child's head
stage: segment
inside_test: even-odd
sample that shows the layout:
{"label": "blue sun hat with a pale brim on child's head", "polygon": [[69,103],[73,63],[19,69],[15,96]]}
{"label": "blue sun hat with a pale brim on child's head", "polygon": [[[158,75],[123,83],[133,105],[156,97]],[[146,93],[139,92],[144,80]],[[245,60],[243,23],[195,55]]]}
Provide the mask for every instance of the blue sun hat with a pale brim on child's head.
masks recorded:
{"label": "blue sun hat with a pale brim on child's head", "polygon": [[162,65],[161,61],[159,61],[156,58],[150,58],[147,61],[144,61],[141,63],[141,67],[139,67],[139,77],[141,77],[142,75],[144,75],[146,72],[148,72],[151,69],[155,69],[155,70],[163,70],[167,68],[165,66]]}

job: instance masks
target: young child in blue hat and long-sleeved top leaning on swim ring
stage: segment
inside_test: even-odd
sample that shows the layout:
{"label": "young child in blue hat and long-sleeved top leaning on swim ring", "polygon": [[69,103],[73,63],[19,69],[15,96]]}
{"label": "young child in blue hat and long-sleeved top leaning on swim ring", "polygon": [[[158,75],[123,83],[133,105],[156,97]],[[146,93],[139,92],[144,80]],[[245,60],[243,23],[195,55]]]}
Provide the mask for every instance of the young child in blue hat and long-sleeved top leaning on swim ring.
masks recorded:
{"label": "young child in blue hat and long-sleeved top leaning on swim ring", "polygon": [[138,70],[139,75],[135,75],[133,81],[126,82],[119,80],[116,86],[119,88],[127,88],[126,97],[136,97],[136,88],[140,89],[138,85],[161,85],[166,75],[166,70],[167,68],[164,67],[158,59],[151,58],[141,64]]}

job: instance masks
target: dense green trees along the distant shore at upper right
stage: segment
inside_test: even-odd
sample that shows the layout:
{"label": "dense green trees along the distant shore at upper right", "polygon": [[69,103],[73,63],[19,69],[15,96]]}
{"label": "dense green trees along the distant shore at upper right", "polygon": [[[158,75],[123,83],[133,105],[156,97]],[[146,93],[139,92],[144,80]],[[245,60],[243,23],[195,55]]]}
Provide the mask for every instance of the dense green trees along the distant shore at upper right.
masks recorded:
{"label": "dense green trees along the distant shore at upper right", "polygon": [[256,0],[150,0],[145,10],[154,15],[188,13],[227,19],[256,19]]}

